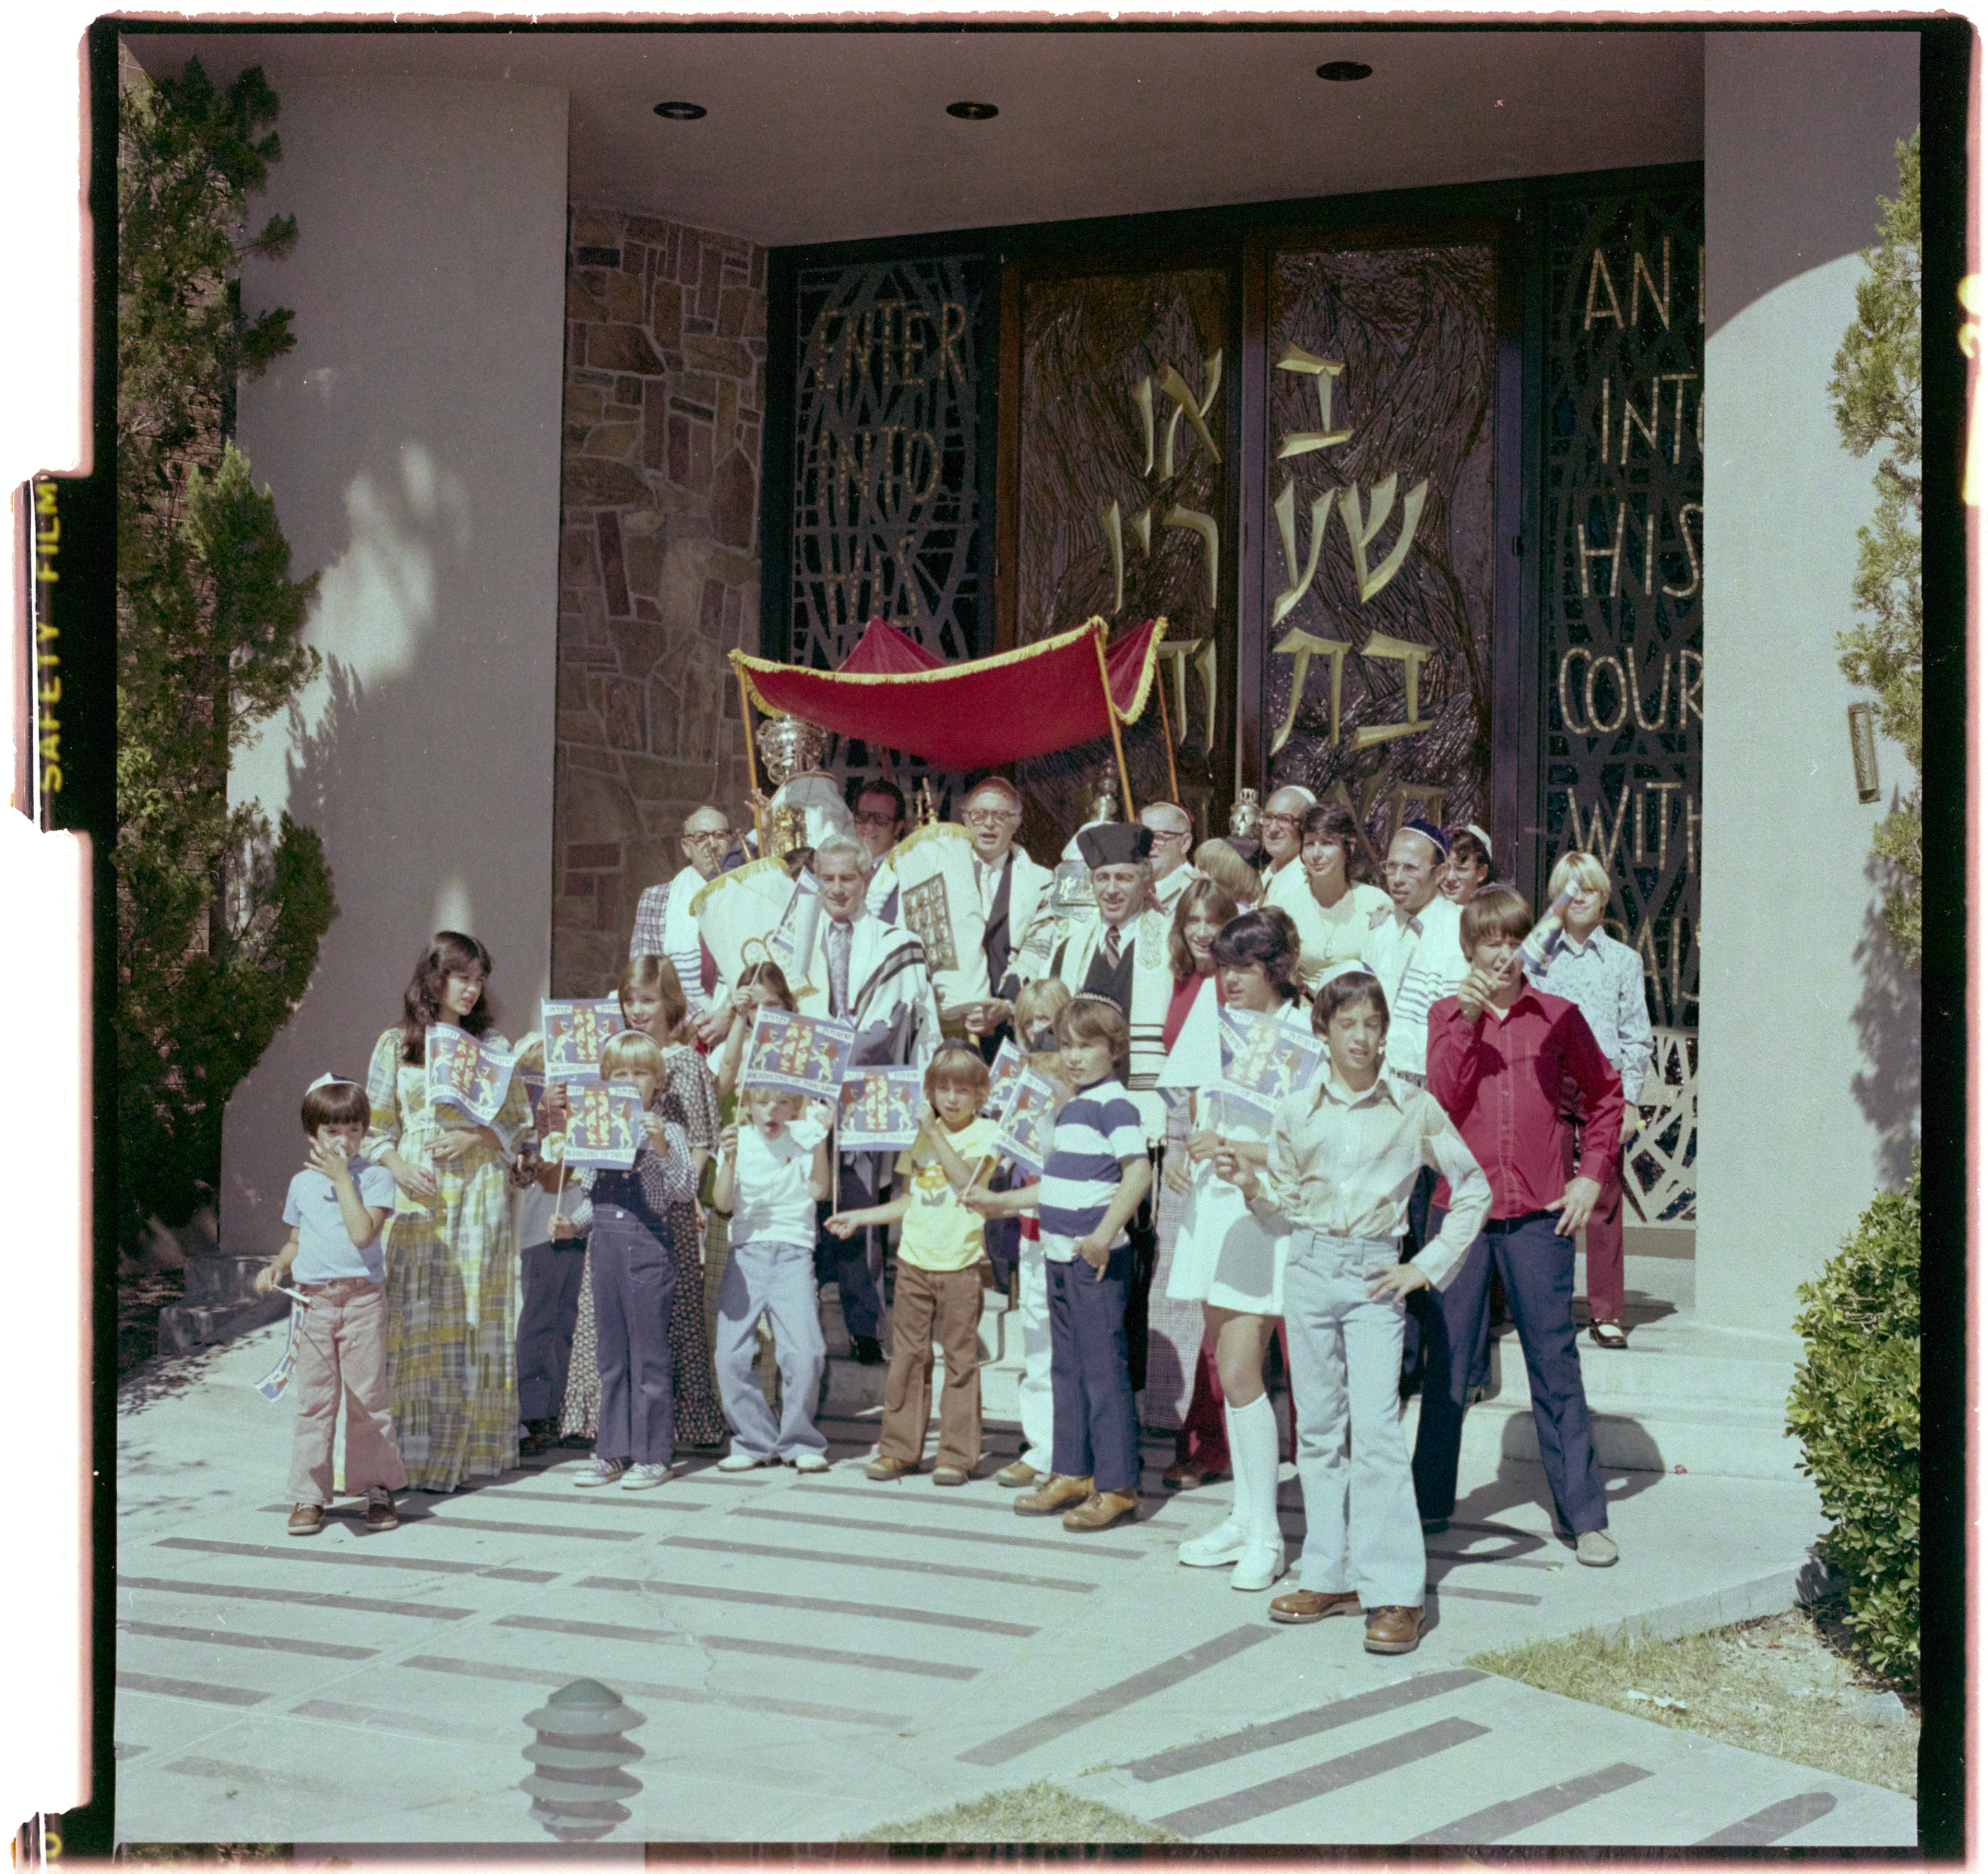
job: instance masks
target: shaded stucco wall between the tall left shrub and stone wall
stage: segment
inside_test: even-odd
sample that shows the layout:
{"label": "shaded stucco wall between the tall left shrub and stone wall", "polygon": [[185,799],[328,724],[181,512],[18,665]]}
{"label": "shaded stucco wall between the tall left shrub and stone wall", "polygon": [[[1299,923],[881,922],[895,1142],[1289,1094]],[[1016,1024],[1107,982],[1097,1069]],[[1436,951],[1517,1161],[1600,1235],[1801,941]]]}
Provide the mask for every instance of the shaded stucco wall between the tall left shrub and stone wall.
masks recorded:
{"label": "shaded stucco wall between the tall left shrub and stone wall", "polygon": [[[364,1075],[437,926],[495,956],[497,1023],[549,984],[567,93],[266,66],[282,163],[250,264],[296,350],[241,391],[292,570],[322,568],[326,680],[233,793],[324,839],[340,916],[290,1025],[229,1105],[221,1238],[266,1250],[302,1089]],[[260,203],[258,203],[260,207]]]}

